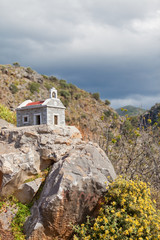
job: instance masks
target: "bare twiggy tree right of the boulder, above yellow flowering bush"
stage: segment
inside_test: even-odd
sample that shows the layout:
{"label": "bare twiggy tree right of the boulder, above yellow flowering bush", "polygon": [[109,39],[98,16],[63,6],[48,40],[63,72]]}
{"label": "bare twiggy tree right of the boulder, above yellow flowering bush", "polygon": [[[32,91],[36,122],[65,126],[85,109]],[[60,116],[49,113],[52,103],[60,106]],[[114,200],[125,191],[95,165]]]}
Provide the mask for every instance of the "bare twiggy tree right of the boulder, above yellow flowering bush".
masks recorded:
{"label": "bare twiggy tree right of the boulder, above yellow flowering bush", "polygon": [[[115,124],[116,124],[115,119]],[[138,175],[160,194],[160,128],[159,123],[148,119],[144,127],[136,117],[122,118],[117,132],[113,123],[105,131],[106,153],[113,163],[117,174],[130,179]],[[157,195],[157,196],[158,196]],[[158,201],[160,207],[160,201]]]}

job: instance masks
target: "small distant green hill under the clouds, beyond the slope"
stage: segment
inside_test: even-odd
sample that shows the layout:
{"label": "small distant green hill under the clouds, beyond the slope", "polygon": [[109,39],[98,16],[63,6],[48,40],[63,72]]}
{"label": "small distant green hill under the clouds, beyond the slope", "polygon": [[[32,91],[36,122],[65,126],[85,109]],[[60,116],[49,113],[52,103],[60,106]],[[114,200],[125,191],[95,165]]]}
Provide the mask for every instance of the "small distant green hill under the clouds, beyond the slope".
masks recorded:
{"label": "small distant green hill under the clouds, beyond the slope", "polygon": [[125,116],[126,114],[128,116],[138,116],[140,114],[143,114],[146,110],[143,108],[138,108],[138,107],[134,107],[131,105],[127,105],[124,106],[122,108],[117,108],[116,112],[120,115],[120,116]]}

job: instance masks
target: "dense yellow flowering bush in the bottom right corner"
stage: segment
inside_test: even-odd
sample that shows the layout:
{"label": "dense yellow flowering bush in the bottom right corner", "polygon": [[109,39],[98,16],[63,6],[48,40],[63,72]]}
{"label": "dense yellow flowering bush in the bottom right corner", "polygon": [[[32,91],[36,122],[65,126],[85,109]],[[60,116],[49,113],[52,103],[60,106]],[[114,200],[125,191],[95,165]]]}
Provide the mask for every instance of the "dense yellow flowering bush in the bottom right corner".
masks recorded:
{"label": "dense yellow flowering bush in the bottom right corner", "polygon": [[98,217],[88,217],[74,230],[74,240],[158,240],[160,213],[146,183],[119,177],[110,184]]}

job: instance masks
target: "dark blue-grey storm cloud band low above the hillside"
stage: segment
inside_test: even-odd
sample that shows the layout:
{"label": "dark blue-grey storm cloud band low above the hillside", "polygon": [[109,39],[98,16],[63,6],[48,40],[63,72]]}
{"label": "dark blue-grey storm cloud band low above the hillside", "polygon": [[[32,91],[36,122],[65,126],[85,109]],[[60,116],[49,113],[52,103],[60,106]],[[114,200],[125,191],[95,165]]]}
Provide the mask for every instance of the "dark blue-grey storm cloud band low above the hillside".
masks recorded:
{"label": "dark blue-grey storm cloud band low above the hillside", "polygon": [[[104,60],[103,60],[104,62]],[[125,66],[123,66],[123,64]],[[139,64],[139,65],[138,65]],[[120,63],[115,66],[111,63],[86,65],[82,67],[63,66],[57,69],[61,78],[69,79],[75,84],[81,82],[82,88],[88,91],[99,91],[102,98],[121,98],[122,96],[136,94],[154,94],[160,92],[158,84],[159,74],[154,66],[138,63]],[[144,72],[142,71],[144,70]],[[78,78],[76,73],[79,72]],[[92,78],[91,78],[92,77]]]}

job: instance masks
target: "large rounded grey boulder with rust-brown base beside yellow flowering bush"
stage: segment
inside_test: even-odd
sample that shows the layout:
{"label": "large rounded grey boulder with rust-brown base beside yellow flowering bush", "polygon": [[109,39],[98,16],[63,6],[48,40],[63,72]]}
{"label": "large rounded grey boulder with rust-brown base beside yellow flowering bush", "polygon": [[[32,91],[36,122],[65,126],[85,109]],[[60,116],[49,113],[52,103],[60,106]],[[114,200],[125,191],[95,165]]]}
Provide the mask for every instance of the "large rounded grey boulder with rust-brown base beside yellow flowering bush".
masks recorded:
{"label": "large rounded grey boulder with rust-brown base beside yellow flowering bush", "polygon": [[29,239],[70,239],[71,223],[96,215],[106,184],[114,178],[112,164],[97,145],[80,142],[73,146],[53,165],[32,208],[25,224]]}

